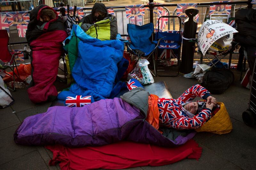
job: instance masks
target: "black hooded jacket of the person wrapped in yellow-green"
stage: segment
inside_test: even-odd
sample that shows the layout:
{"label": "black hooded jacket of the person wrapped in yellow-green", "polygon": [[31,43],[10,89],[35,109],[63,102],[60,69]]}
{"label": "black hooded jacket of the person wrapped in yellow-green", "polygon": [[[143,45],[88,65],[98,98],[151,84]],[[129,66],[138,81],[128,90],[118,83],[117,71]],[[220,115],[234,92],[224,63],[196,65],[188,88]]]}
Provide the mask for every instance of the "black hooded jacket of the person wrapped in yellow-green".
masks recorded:
{"label": "black hooded jacket of the person wrapped in yellow-green", "polygon": [[[105,14],[104,17],[100,18],[96,18],[94,17],[94,13],[95,12],[103,12]],[[103,18],[106,17],[110,17],[111,15],[108,14],[108,10],[106,8],[106,6],[102,3],[95,3],[92,7],[92,13],[83,17],[80,22],[85,23],[85,24],[94,24],[95,22],[98,22],[100,20],[102,20]]]}

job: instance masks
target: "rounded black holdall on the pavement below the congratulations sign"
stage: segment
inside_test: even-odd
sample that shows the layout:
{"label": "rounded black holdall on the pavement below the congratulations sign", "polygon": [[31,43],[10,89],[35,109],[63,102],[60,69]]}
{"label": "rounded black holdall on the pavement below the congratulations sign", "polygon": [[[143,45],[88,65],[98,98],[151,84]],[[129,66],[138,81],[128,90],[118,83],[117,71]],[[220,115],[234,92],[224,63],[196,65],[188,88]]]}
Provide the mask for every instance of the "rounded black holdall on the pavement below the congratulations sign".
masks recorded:
{"label": "rounded black holdall on the pavement below the congratulations sign", "polygon": [[212,94],[221,94],[234,82],[235,76],[226,68],[212,68],[203,77],[202,86]]}

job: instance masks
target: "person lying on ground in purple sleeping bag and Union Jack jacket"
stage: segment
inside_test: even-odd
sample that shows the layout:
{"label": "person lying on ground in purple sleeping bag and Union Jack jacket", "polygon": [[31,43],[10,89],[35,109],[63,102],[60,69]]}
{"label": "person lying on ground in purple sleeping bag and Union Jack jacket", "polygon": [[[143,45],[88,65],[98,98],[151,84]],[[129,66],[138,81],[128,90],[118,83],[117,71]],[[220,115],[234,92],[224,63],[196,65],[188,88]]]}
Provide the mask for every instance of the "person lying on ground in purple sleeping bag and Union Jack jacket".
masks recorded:
{"label": "person lying on ground in purple sleeping bag and Union Jack jacket", "polygon": [[[207,99],[206,108],[187,103],[195,97]],[[202,126],[212,117],[214,105],[216,99],[200,85],[192,86],[178,99],[158,98],[136,87],[120,98],[84,107],[50,107],[46,113],[27,117],[16,130],[14,141],[82,147],[130,140],[175,147],[194,137],[195,131],[184,129]]]}

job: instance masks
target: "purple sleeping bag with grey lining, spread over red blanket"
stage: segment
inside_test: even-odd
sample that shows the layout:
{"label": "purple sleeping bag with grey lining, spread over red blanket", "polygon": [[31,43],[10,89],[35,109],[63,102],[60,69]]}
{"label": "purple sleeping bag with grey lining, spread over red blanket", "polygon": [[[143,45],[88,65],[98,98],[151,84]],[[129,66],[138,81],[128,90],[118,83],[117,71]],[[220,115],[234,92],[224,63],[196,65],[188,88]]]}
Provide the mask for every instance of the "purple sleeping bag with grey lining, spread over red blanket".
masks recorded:
{"label": "purple sleeping bag with grey lining, spread over red blanket", "polygon": [[24,145],[62,144],[99,146],[121,140],[173,147],[194,137],[172,129],[164,135],[145,121],[148,92],[132,89],[120,98],[105,99],[84,107],[50,107],[27,117],[17,128],[14,141]]}

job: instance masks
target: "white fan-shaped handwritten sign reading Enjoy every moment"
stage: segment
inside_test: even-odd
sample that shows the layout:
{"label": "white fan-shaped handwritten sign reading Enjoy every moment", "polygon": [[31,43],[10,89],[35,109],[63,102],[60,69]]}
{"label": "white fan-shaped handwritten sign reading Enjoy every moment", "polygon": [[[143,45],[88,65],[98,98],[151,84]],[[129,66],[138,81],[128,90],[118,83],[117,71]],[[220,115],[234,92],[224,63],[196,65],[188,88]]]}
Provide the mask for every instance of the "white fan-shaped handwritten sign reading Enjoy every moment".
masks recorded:
{"label": "white fan-shaped handwritten sign reading Enjoy every moment", "polygon": [[198,32],[198,47],[205,55],[210,46],[219,38],[238,33],[235,28],[218,20],[208,20],[203,23]]}

